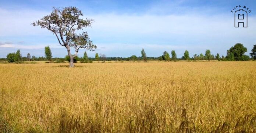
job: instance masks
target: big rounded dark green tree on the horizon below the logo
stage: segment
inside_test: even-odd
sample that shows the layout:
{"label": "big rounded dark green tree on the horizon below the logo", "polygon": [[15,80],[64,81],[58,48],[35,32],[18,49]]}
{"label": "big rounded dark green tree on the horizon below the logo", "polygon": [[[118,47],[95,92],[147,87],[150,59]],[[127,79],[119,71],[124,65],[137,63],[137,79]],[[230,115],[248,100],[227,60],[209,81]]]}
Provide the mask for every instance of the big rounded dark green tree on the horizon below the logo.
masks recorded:
{"label": "big rounded dark green tree on the horizon below the logo", "polygon": [[247,48],[243,46],[241,43],[237,43],[229,49],[230,53],[234,54],[235,60],[242,60],[242,56],[245,52],[247,52]]}

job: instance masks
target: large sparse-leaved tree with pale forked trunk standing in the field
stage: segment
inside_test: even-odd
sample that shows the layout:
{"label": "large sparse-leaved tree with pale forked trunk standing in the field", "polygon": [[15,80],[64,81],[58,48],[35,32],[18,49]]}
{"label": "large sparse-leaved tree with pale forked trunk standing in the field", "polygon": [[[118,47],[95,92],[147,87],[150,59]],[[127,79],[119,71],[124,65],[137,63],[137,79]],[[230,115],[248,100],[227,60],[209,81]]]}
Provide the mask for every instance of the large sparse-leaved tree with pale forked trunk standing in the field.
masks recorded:
{"label": "large sparse-leaved tree with pale forked trunk standing in the field", "polygon": [[[82,11],[77,7],[53,8],[50,15],[33,22],[33,26],[41,26],[56,35],[61,46],[67,49],[70,57],[70,67],[74,67],[74,58],[77,57],[79,49],[92,50],[97,48],[92,43],[87,32],[75,33],[77,30],[91,26],[93,19],[81,19]],[[71,47],[74,47],[75,54],[71,54]]]}

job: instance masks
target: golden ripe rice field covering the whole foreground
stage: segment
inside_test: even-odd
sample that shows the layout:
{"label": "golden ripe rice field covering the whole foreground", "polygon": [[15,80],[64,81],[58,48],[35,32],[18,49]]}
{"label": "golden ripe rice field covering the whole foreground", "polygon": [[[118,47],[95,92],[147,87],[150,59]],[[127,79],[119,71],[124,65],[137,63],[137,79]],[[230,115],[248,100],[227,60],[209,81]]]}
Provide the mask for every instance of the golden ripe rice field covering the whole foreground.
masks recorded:
{"label": "golden ripe rice field covering the whole foreground", "polygon": [[0,64],[0,132],[256,132],[256,61]]}

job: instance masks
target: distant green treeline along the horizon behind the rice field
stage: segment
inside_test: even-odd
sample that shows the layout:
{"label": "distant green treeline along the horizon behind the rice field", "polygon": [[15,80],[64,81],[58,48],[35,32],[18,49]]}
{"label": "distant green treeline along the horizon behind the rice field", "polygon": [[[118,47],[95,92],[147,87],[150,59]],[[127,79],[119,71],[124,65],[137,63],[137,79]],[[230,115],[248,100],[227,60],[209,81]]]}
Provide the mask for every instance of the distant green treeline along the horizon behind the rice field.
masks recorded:
{"label": "distant green treeline along the horizon behind the rice field", "polygon": [[[250,56],[252,60],[256,60],[256,45],[253,45],[253,49],[251,50]],[[81,63],[92,63],[92,61],[145,61],[147,60],[164,60],[164,61],[177,61],[177,60],[187,60],[187,61],[197,61],[197,60],[218,60],[218,61],[246,61],[249,60],[250,57],[245,55],[247,52],[247,48],[243,46],[241,43],[237,43],[227,50],[226,56],[221,56],[220,54],[213,55],[211,51],[207,49],[205,54],[200,53],[194,54],[190,57],[188,50],[185,50],[184,56],[181,58],[177,58],[177,54],[175,50],[171,51],[171,55],[165,51],[162,56],[159,57],[147,57],[145,50],[141,50],[141,56],[137,57],[132,55],[131,57],[106,57],[105,54],[95,54],[95,57],[88,57],[87,53],[83,54],[83,57],[75,57],[74,62],[80,61]],[[0,61],[8,61],[15,63],[22,63],[23,61],[47,61],[47,62],[55,62],[61,63],[65,61],[70,61],[69,56],[65,56],[64,58],[52,58],[51,50],[49,46],[45,47],[45,57],[35,57],[28,53],[26,57],[22,57],[20,50],[17,50],[16,53],[9,53],[6,58],[0,58]]]}

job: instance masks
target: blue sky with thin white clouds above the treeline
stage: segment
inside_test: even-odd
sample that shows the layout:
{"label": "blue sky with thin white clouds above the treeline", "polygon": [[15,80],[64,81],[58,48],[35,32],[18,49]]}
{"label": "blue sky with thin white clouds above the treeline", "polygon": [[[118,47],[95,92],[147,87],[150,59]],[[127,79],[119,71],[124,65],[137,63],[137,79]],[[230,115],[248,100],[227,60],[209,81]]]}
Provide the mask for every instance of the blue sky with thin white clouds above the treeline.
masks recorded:
{"label": "blue sky with thin white clouds above the treeline", "polygon": [[[236,5],[246,5],[248,28],[234,27]],[[226,55],[227,49],[242,43],[248,52],[256,44],[256,1],[253,0],[0,0],[0,58],[21,50],[23,56],[44,56],[49,45],[53,57],[64,57],[67,51],[58,45],[56,37],[30,23],[50,14],[52,7],[76,6],[84,17],[94,19],[85,28],[98,47],[87,52],[107,57],[158,57],[164,51],[175,50],[181,57],[185,50],[193,54]],[[81,57],[85,50],[79,51]]]}

